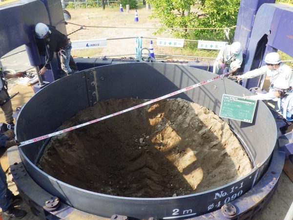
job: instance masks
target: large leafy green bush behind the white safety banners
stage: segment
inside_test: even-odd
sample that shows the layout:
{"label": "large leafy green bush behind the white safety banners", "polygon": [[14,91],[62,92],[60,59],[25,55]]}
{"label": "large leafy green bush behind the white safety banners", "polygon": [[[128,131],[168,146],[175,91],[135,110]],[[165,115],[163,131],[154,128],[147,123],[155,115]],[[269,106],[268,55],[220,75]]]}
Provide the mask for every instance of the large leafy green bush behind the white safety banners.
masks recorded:
{"label": "large leafy green bush behind the white safety banners", "polygon": [[[221,30],[188,30],[185,28],[225,28],[236,25],[240,0],[147,0],[153,8],[151,18],[159,18],[162,27],[180,27],[167,30],[175,37],[186,39],[224,40],[225,32]],[[156,34],[164,32],[160,29]],[[230,29],[230,38],[234,29]]]}

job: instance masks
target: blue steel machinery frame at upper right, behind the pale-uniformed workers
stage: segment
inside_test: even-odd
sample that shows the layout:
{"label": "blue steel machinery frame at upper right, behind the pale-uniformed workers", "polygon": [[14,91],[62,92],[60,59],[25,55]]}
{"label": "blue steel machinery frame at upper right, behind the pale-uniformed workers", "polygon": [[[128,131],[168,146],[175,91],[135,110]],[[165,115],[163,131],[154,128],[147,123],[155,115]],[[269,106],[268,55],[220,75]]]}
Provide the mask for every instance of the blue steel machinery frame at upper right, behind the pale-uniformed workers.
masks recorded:
{"label": "blue steel machinery frame at upper right, behind the pale-uniformed workers", "polygon": [[[243,45],[244,73],[264,66],[264,57],[270,52],[281,50],[293,57],[293,7],[262,2],[268,3],[241,1],[234,40]],[[259,87],[259,78],[243,80],[243,86]]]}

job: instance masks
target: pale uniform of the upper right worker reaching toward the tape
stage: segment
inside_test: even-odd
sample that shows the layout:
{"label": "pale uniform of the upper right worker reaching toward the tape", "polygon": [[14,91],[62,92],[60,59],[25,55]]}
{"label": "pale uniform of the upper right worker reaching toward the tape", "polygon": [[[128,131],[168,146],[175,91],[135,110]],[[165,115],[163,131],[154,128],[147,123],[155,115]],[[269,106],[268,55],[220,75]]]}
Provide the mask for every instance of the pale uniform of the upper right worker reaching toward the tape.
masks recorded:
{"label": "pale uniform of the upper right worker reaching toward the tape", "polygon": [[269,67],[262,66],[258,69],[254,69],[251,71],[246,72],[245,74],[241,75],[242,79],[250,79],[256,76],[260,76],[266,74],[270,77],[271,87],[268,93],[261,94],[259,97],[261,97],[260,100],[272,100],[275,99],[275,96],[273,95],[273,83],[278,77],[282,77],[286,81],[289,82],[289,85],[293,87],[293,71],[290,66],[287,66],[283,63],[280,64],[280,67],[277,70],[271,70]]}

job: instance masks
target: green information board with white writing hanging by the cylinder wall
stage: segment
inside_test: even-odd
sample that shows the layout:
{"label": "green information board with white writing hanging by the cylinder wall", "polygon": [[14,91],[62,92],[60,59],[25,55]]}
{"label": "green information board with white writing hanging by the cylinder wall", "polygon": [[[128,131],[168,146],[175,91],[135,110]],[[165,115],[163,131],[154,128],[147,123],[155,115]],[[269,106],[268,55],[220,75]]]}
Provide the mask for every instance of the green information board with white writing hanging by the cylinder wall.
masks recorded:
{"label": "green information board with white writing hanging by the cylinder wall", "polygon": [[252,123],[256,100],[223,94],[220,117]]}

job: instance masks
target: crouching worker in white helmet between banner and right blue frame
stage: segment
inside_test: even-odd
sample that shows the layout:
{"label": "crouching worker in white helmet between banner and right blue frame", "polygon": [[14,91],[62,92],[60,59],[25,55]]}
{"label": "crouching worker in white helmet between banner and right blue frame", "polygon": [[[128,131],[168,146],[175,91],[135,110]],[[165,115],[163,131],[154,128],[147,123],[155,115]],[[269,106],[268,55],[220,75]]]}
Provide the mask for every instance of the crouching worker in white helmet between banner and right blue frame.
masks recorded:
{"label": "crouching worker in white helmet between banner and right blue frame", "polygon": [[230,75],[233,75],[241,67],[242,61],[241,44],[239,42],[225,45],[217,56],[212,72],[218,74],[220,69],[228,68]]}

